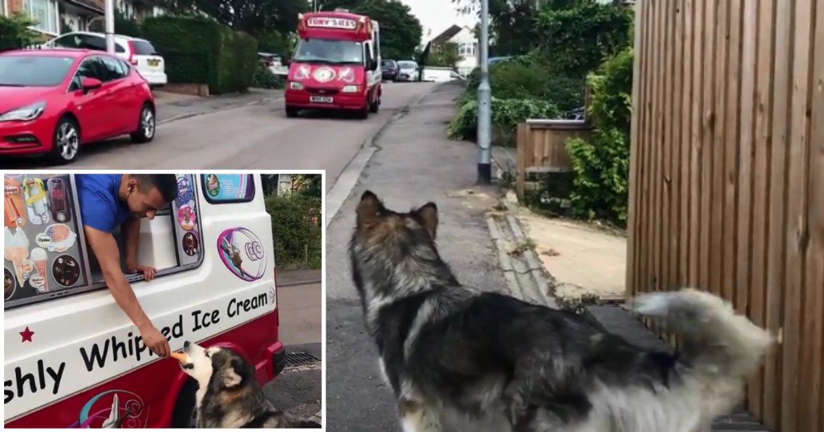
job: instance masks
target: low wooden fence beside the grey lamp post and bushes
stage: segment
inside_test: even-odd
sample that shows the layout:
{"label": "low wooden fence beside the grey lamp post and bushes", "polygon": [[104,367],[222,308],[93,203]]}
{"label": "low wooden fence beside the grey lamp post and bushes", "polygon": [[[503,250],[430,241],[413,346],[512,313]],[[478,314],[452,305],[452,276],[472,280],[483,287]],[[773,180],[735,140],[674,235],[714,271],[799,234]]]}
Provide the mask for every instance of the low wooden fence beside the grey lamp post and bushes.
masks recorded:
{"label": "low wooden fence beside the grey lamp post and bushes", "polygon": [[592,127],[580,120],[529,119],[517,126],[517,179],[515,191],[523,199],[527,174],[569,173],[572,161],[567,139],[589,137]]}

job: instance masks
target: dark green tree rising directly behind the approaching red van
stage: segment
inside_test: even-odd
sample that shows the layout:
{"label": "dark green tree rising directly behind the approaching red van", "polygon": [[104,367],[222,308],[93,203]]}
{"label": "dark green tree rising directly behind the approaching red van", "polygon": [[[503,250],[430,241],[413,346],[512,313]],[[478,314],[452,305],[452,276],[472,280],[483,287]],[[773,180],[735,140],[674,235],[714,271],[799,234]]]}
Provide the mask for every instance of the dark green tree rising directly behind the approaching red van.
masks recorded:
{"label": "dark green tree rising directly behind the approaching red van", "polygon": [[320,0],[322,10],[337,7],[371,17],[381,26],[383,58],[414,58],[415,49],[424,35],[424,27],[410,7],[399,0]]}

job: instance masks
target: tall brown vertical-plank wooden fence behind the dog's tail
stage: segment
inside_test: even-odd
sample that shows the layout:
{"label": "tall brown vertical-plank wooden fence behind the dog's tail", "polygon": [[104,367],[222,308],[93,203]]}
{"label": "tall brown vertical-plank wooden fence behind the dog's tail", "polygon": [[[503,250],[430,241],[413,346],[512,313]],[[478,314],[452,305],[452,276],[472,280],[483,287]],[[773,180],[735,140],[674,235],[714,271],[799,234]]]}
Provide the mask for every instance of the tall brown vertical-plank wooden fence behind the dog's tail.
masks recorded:
{"label": "tall brown vertical-plank wooden fence behind the dog's tail", "polygon": [[698,286],[784,342],[747,388],[824,431],[824,0],[639,0],[627,287]]}

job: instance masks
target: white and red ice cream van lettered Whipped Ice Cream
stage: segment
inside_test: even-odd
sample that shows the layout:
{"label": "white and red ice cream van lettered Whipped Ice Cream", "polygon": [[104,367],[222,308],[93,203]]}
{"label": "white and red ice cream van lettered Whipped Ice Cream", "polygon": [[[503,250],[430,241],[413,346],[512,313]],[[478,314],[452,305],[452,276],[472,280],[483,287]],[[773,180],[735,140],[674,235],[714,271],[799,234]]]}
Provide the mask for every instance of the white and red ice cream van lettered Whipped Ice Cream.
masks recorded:
{"label": "white and red ice cream van lettered Whipped Ice Cream", "polygon": [[[172,350],[229,346],[274,379],[285,352],[260,175],[176,177],[175,202],[140,226],[138,262],[157,276],[127,278]],[[106,289],[74,174],[4,174],[3,188],[5,427],[188,427],[197,384]]]}

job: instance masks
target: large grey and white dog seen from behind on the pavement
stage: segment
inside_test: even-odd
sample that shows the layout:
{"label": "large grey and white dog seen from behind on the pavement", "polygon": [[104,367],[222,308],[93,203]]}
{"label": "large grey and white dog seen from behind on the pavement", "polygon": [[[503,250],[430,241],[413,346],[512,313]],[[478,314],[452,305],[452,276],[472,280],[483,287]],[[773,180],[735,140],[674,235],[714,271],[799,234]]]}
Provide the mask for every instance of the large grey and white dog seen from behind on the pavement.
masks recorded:
{"label": "large grey and white dog seen from behind on the pavement", "polygon": [[435,244],[433,202],[408,213],[367,191],[349,244],[354,285],[405,432],[696,432],[742,399],[775,339],[698,290],[642,295],[678,354],[571,312],[461,286]]}

